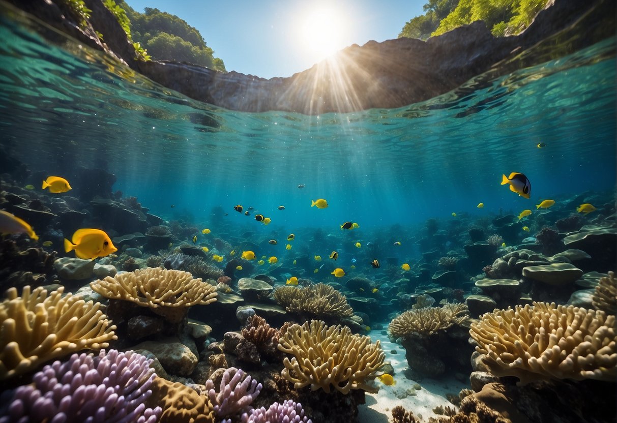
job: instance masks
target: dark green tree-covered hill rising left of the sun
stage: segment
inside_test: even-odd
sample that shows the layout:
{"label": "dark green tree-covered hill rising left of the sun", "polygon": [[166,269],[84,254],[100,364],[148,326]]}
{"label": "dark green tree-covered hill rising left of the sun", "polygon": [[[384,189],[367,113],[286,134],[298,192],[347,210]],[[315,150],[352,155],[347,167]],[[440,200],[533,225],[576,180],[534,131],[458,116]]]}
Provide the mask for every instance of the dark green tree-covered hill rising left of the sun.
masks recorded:
{"label": "dark green tree-covered hill rising left of the sun", "polygon": [[124,0],[118,0],[118,4],[131,21],[133,40],[146,47],[153,59],[188,62],[227,72],[223,60],[214,57],[199,31],[185,20],[151,7],[139,13]]}

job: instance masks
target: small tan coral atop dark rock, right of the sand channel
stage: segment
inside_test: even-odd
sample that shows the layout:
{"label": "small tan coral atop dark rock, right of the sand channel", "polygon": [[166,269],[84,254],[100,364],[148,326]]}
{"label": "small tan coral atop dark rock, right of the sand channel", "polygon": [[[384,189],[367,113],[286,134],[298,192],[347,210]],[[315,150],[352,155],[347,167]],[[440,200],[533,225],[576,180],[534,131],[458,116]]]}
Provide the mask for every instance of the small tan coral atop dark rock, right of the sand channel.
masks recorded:
{"label": "small tan coral atop dark rock, right of the sand channel", "polygon": [[388,329],[393,337],[412,333],[423,336],[445,331],[454,324],[461,324],[469,317],[464,303],[444,304],[441,307],[407,310],[390,322]]}

